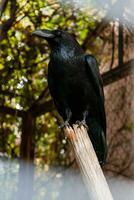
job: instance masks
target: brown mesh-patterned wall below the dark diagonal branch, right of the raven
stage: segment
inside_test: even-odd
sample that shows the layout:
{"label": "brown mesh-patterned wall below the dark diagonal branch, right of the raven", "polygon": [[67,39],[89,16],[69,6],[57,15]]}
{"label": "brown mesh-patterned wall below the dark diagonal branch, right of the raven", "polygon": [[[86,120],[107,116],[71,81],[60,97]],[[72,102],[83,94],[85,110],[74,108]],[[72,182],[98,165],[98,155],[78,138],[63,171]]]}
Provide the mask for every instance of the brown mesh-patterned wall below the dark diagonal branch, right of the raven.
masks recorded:
{"label": "brown mesh-patterned wall below the dark diagonal branch, right of the raven", "polygon": [[134,74],[105,87],[108,171],[134,176]]}

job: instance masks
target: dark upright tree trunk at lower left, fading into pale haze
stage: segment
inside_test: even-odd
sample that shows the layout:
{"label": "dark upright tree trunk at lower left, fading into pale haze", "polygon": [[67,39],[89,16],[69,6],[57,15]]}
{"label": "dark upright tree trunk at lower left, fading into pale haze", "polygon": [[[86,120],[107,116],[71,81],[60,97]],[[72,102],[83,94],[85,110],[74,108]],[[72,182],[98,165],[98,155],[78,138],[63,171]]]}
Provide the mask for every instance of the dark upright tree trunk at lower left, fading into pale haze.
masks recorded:
{"label": "dark upright tree trunk at lower left, fading into pale haze", "polygon": [[19,184],[17,191],[17,199],[20,200],[32,200],[33,196],[35,123],[36,118],[30,112],[26,112],[22,118],[20,146]]}

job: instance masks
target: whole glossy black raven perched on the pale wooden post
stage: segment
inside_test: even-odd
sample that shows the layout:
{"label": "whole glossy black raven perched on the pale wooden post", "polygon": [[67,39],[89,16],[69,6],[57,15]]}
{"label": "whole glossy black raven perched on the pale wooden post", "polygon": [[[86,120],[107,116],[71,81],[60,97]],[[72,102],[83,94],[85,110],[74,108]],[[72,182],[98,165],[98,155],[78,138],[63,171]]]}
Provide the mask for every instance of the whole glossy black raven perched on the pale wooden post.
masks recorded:
{"label": "whole glossy black raven perched on the pale wooden post", "polygon": [[63,30],[36,30],[51,48],[48,86],[64,125],[88,126],[100,164],[106,160],[104,93],[97,61],[85,54],[71,34]]}

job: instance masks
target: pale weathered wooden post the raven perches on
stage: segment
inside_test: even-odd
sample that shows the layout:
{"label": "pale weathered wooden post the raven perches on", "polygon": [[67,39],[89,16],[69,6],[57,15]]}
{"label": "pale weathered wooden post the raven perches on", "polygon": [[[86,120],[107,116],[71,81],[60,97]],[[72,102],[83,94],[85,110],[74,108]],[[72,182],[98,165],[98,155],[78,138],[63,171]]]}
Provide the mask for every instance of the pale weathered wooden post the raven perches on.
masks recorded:
{"label": "pale weathered wooden post the raven perches on", "polygon": [[86,129],[73,125],[64,129],[72,144],[77,163],[82,172],[91,200],[112,200],[108,184],[103,175]]}

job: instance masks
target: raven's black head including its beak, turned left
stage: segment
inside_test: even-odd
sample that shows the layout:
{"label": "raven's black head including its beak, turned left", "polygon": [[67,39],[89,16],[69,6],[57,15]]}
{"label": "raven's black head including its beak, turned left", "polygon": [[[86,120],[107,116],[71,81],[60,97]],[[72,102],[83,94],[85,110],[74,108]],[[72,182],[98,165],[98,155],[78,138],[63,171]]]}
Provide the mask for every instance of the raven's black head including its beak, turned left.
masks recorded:
{"label": "raven's black head including its beak, turned left", "polygon": [[46,29],[38,29],[35,30],[32,35],[36,35],[38,37],[44,38],[48,41],[51,48],[55,47],[68,47],[68,48],[80,48],[78,42],[74,39],[74,37],[63,30],[46,30]]}

